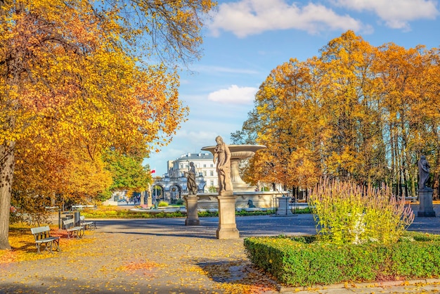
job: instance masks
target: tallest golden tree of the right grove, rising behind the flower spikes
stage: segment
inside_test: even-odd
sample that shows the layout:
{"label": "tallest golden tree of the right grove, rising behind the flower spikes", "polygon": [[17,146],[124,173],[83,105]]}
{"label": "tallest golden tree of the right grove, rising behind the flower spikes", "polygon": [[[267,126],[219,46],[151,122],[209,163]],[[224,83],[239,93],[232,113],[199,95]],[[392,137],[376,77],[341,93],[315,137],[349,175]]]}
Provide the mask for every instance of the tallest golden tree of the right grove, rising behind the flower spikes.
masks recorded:
{"label": "tallest golden tree of the right grove, rising behind the flower spikes", "polygon": [[384,169],[374,58],[374,47],[349,31],[324,46],[315,65],[328,134],[325,172],[364,184],[380,179]]}

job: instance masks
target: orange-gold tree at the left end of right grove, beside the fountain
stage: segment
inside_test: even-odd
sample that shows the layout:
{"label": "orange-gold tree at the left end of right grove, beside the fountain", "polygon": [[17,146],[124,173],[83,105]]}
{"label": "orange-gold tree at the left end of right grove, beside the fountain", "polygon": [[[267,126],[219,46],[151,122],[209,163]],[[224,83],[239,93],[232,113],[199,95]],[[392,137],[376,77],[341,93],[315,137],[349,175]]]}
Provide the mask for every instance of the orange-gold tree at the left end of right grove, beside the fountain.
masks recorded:
{"label": "orange-gold tree at the left end of right grove, beside the fountain", "polygon": [[[273,70],[261,84],[255,110],[243,124],[242,131],[233,134],[237,138],[256,136],[255,143],[268,147],[252,158],[249,168],[253,172],[245,172],[248,181],[256,182],[259,177],[266,183],[281,183],[289,188],[315,184],[313,174],[317,160],[311,164],[311,158],[317,154],[313,146],[318,144],[310,140],[312,135],[307,136],[316,133],[311,128],[316,127],[312,124],[316,117],[314,112],[308,111],[315,98],[309,91],[311,79],[309,66],[292,59]],[[306,138],[308,140],[304,140]],[[309,157],[304,156],[306,146],[309,146]],[[299,173],[297,169],[304,172]],[[306,173],[308,177],[304,177]]]}

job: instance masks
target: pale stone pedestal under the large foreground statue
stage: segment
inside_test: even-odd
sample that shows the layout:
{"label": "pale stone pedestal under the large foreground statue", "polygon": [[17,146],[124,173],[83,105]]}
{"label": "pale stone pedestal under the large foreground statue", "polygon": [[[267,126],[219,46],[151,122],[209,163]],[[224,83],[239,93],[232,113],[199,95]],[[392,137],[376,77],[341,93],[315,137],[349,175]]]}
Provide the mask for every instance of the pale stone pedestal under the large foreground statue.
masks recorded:
{"label": "pale stone pedestal under the large foreground statue", "polygon": [[235,196],[233,191],[221,192],[219,197],[219,229],[216,231],[217,239],[240,238],[240,232],[235,224]]}

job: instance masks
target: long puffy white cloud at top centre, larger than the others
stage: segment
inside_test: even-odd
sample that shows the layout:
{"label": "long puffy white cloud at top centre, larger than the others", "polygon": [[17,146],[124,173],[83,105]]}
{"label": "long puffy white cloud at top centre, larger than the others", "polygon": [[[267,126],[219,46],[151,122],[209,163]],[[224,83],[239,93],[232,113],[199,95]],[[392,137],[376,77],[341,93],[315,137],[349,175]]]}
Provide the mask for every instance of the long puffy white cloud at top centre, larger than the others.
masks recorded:
{"label": "long puffy white cloud at top centre, larger than the others", "polygon": [[359,31],[363,30],[363,25],[349,15],[338,15],[320,4],[299,7],[285,0],[241,0],[221,4],[209,29],[214,36],[225,30],[246,37],[268,30],[297,29],[311,34],[328,29]]}

